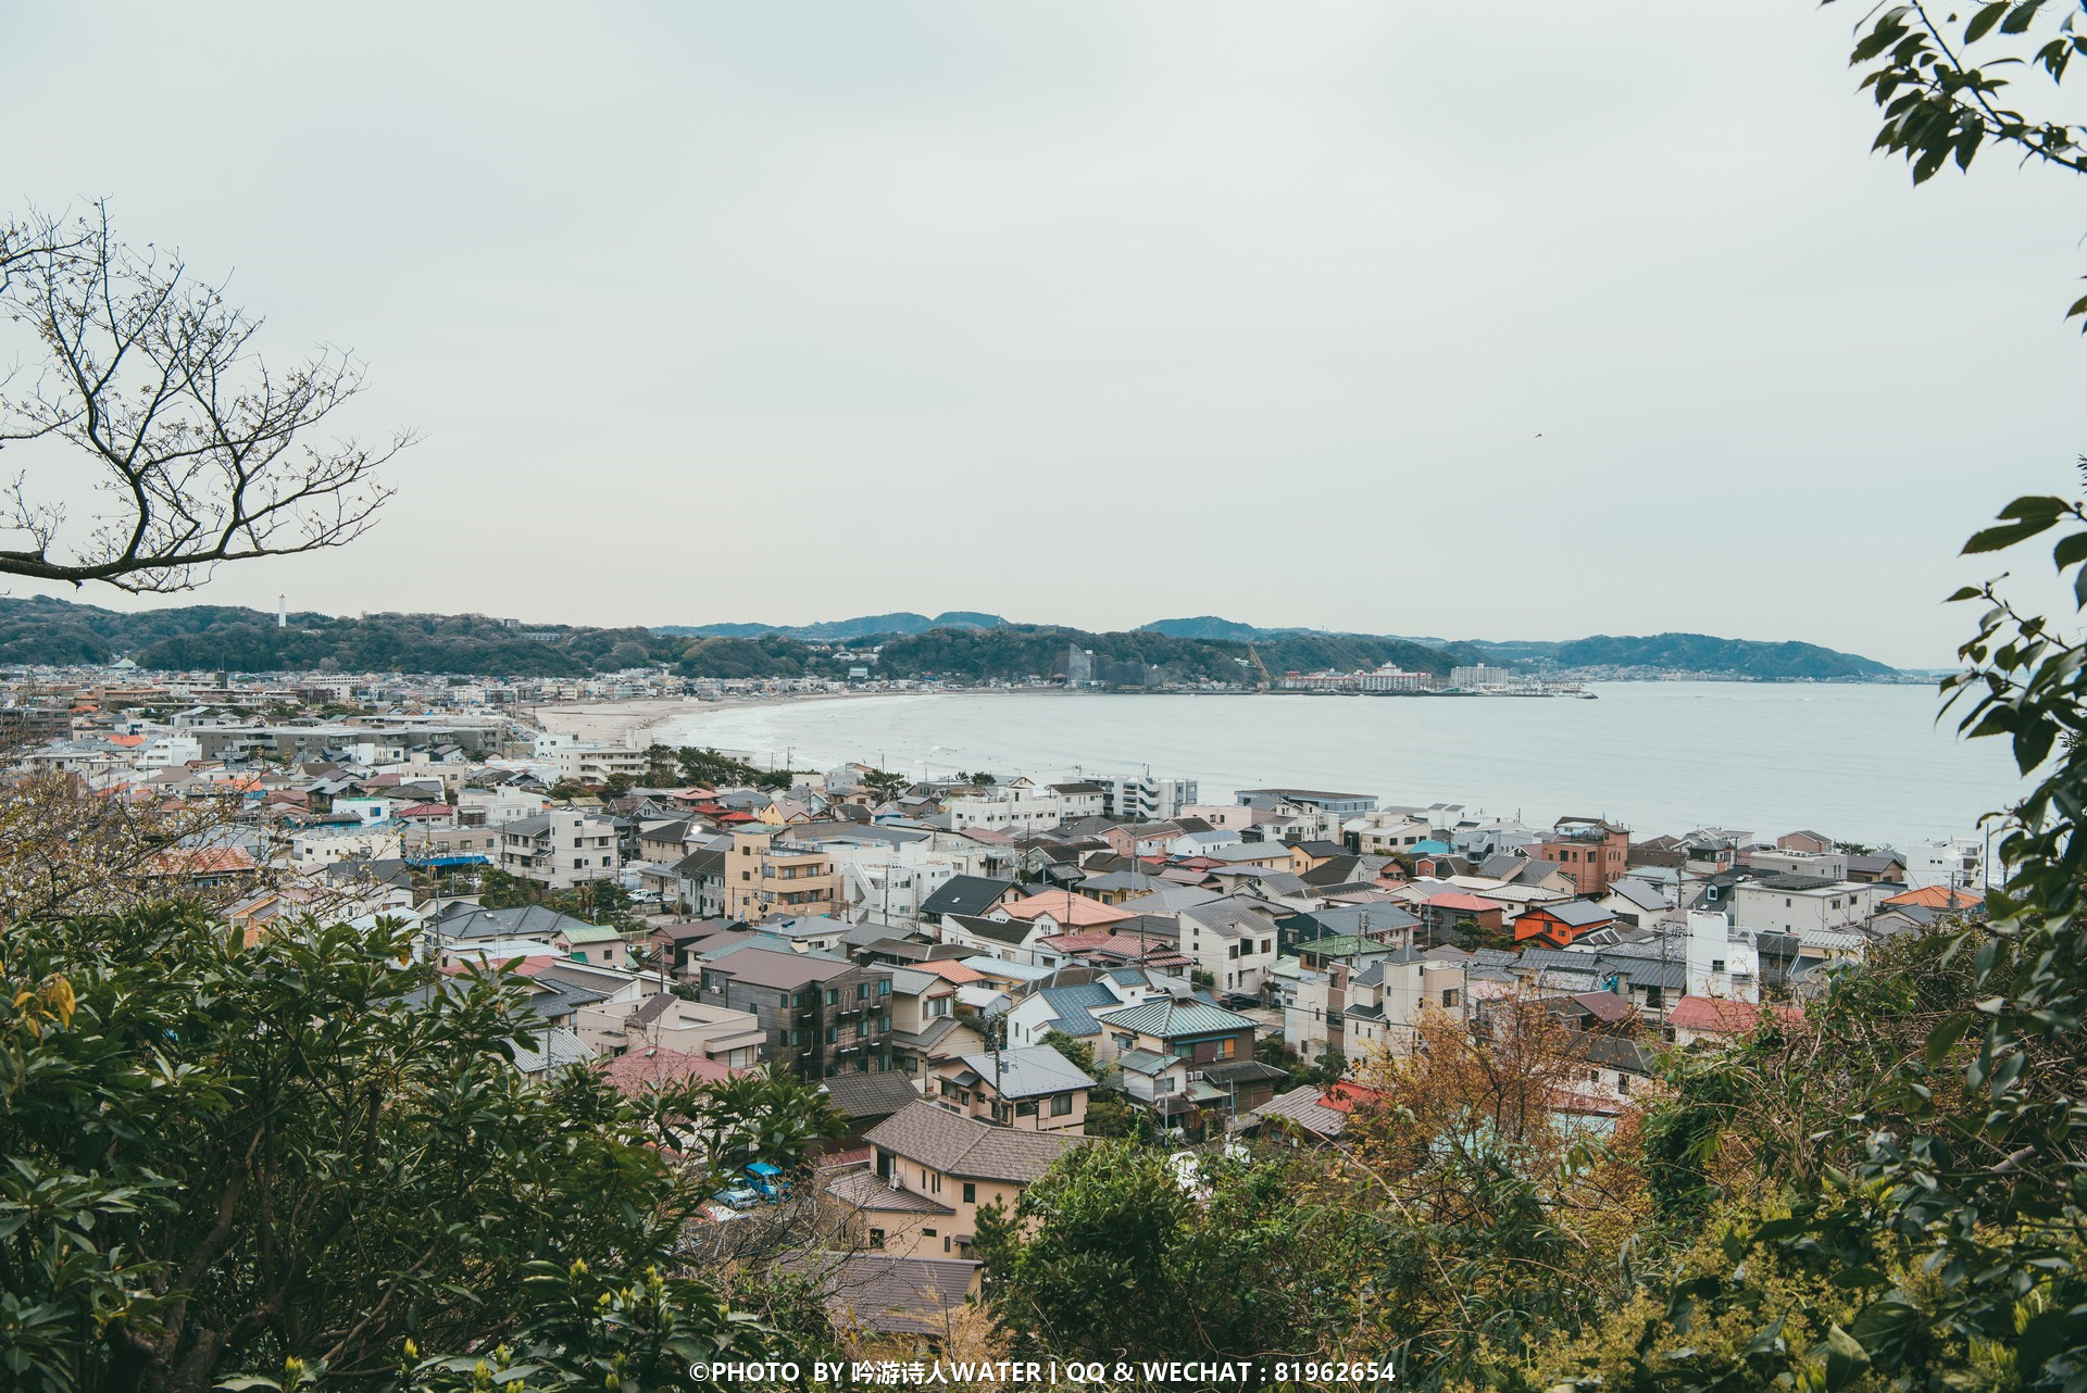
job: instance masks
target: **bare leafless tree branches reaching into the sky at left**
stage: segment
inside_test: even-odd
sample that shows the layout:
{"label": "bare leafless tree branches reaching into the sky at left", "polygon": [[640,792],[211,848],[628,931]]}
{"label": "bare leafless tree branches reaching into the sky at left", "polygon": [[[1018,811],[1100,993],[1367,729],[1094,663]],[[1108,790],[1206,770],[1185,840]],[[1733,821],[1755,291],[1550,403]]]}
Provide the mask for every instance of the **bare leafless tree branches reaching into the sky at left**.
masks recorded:
{"label": "bare leafless tree branches reaching into the sky at left", "polygon": [[271,369],[223,282],[123,246],[106,206],[0,225],[0,311],[40,355],[0,382],[0,444],[25,465],[0,576],[186,590],[223,561],[353,542],[390,496],[378,473],[409,436],[317,438],[361,363],[321,348]]}

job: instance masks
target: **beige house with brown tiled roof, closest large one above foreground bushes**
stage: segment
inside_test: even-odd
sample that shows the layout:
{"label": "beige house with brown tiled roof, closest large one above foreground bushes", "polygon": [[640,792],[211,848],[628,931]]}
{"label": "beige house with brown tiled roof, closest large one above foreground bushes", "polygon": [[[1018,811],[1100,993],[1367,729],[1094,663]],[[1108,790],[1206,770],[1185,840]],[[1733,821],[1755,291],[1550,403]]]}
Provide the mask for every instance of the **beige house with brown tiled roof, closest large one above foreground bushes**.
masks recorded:
{"label": "beige house with brown tiled roof, closest large one above foreground bushes", "polygon": [[1018,1132],[912,1103],[870,1128],[870,1164],[826,1182],[860,1241],[897,1257],[970,1257],[979,1209],[1014,1209],[1052,1162],[1081,1143]]}

